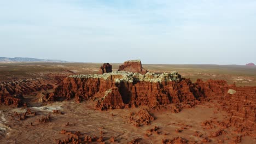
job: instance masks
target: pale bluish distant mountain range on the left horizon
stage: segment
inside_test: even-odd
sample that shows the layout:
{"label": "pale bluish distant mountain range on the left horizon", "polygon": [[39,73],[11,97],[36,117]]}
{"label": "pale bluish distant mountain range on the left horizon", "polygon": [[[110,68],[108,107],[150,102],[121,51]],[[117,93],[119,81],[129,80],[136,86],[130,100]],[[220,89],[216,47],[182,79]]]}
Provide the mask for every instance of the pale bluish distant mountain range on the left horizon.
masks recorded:
{"label": "pale bluish distant mountain range on the left horizon", "polygon": [[28,58],[28,57],[0,57],[0,63],[8,62],[52,62],[52,63],[66,63],[67,61],[53,60],[53,59],[38,59],[38,58]]}

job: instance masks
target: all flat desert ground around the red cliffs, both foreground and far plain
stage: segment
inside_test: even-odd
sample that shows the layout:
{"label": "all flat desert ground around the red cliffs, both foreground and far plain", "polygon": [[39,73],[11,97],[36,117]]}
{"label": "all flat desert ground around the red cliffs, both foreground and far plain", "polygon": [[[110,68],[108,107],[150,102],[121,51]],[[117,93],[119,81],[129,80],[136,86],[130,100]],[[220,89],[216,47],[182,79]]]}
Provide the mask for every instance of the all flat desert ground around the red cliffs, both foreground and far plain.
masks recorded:
{"label": "all flat desert ground around the red cliffs, both foreground and far plain", "polygon": [[[150,109],[141,105],[126,109],[98,110],[95,109],[94,100],[81,103],[74,99],[47,103],[40,100],[41,94],[54,92],[63,77],[97,74],[101,65],[102,63],[1,63],[0,83],[3,86],[20,80],[25,85],[27,81],[36,83],[29,84],[33,87],[31,92],[22,91],[26,106],[0,104],[0,143],[60,143],[60,140],[68,139],[71,135],[83,137],[81,143],[256,143],[255,124],[253,130],[248,132],[250,134],[237,132],[234,125],[222,127],[220,123],[229,118],[229,113],[222,110],[222,104],[216,99],[183,107],[177,113],[168,109],[168,106],[174,104],[169,104],[166,109]],[[112,64],[113,70],[118,70],[119,65]],[[197,79],[212,79],[225,80],[230,85],[235,83],[237,87],[256,86],[256,67],[143,64],[143,68],[153,73],[175,70],[192,82]],[[53,77],[58,79],[53,80]],[[37,88],[38,85],[44,87],[49,83],[49,88]],[[255,101],[255,97],[253,98]],[[252,109],[255,110],[255,105]],[[141,123],[137,127],[136,119],[144,117],[144,114],[138,114],[139,111],[146,111],[146,116],[153,118],[149,123]],[[28,113],[27,116],[21,118],[25,112]],[[86,136],[91,137],[92,141],[86,141]]]}

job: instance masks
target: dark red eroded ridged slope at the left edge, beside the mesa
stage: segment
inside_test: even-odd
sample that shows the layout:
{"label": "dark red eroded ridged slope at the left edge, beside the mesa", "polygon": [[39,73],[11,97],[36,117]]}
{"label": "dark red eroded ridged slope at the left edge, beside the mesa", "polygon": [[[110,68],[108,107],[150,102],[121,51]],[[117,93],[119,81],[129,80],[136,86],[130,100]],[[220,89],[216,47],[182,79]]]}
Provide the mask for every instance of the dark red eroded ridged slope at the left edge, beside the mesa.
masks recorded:
{"label": "dark red eroded ridged slope at the left edge, beside the mesa", "polygon": [[0,104],[22,106],[22,96],[38,91],[53,89],[62,82],[67,75],[48,74],[35,79],[19,79],[0,83]]}

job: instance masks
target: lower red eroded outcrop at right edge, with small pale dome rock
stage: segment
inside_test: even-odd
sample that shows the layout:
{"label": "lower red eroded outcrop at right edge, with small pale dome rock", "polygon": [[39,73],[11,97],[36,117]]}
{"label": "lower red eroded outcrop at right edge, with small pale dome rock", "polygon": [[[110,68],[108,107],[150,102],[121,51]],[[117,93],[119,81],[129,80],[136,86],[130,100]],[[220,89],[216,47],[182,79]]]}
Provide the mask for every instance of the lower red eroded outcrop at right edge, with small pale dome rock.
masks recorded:
{"label": "lower red eroded outcrop at right edge, with small pale dome rock", "polygon": [[[197,80],[193,85],[195,97],[218,100],[222,109],[231,115],[229,122],[220,123],[222,127],[234,125],[238,131],[256,130],[256,87],[236,87],[223,80]],[[211,125],[206,123],[206,126]]]}

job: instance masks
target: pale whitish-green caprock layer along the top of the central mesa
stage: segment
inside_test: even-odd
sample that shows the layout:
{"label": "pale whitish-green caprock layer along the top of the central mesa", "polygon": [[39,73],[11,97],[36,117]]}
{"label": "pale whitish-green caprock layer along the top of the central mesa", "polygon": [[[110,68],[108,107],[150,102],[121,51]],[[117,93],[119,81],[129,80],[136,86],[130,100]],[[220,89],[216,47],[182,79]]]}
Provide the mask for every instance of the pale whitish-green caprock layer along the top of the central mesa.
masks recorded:
{"label": "pale whitish-green caprock layer along the top of the central mesa", "polygon": [[[78,79],[101,79],[111,80],[112,76],[114,76],[114,81],[119,82],[162,82],[162,81],[179,81],[181,79],[181,75],[178,74],[177,71],[172,71],[171,73],[147,73],[147,74],[139,74],[139,73],[131,73],[128,71],[112,71],[112,73],[104,73],[104,74],[94,74],[94,75],[71,75],[68,76],[70,78],[78,78]],[[116,77],[115,77],[116,76]]]}

